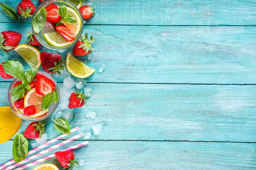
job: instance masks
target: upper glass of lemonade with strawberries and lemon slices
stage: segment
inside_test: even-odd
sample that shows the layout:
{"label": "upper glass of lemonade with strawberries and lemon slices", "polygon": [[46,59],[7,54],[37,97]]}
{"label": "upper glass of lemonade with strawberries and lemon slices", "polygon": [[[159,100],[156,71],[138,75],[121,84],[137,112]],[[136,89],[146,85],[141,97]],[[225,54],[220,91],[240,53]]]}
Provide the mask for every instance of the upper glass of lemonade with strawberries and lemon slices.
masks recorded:
{"label": "upper glass of lemonade with strawberries and lemon slices", "polygon": [[[56,14],[56,10],[54,11],[52,7],[57,7],[59,9],[61,6],[66,7],[66,15],[69,17],[71,16],[73,18],[72,22],[66,19],[67,17],[61,17],[61,19],[58,22],[52,22],[52,20],[47,19],[46,23],[44,24],[44,27],[39,33],[35,32],[35,29],[33,28],[32,24],[32,32],[35,35],[35,38],[38,40],[38,42],[44,45],[44,47],[53,50],[64,51],[65,49],[69,48],[71,45],[73,45],[79,40],[84,28],[83,17],[79,9],[76,8],[76,6],[73,3],[70,3],[70,1],[67,0],[45,1],[44,3],[41,3],[40,6],[38,6],[38,8],[32,16],[32,20],[36,17],[37,13],[40,12],[41,8],[46,8],[48,11],[52,10],[52,13],[47,12],[47,16],[51,17],[51,14]],[[73,38],[70,39],[67,36],[63,35],[63,33],[61,32],[63,28],[59,29],[59,25],[62,25],[61,27],[66,28],[66,30],[64,31],[70,31],[70,34],[73,35]]]}

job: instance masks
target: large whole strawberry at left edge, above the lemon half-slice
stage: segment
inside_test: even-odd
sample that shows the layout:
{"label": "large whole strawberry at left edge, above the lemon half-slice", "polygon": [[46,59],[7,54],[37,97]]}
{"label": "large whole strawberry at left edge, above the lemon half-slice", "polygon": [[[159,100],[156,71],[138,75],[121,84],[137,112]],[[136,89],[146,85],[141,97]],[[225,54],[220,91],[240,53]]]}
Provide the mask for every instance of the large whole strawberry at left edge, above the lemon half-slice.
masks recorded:
{"label": "large whole strawberry at left edge, above the lemon half-slice", "polygon": [[0,44],[1,51],[11,51],[13,50],[20,42],[22,35],[15,31],[3,31],[0,34]]}

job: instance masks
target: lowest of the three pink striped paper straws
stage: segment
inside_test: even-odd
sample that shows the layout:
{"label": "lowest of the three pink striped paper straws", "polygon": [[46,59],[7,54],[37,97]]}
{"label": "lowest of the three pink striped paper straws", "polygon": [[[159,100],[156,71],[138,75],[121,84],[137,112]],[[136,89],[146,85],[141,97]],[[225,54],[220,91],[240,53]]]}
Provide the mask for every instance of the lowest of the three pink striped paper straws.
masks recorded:
{"label": "lowest of the three pink striped paper straws", "polygon": [[[64,149],[64,150],[61,150],[61,151],[71,151],[71,150],[77,149],[77,148],[79,148],[79,147],[85,146],[85,145],[87,145],[87,144],[89,144],[88,141],[85,141],[85,142],[82,142],[82,143],[80,143],[80,144],[76,144],[76,145],[74,145],[74,146],[72,146],[72,147],[69,147],[69,148]],[[23,166],[21,166],[21,167],[18,167],[18,168],[16,168],[15,170],[24,170],[24,169],[26,169],[26,168],[28,168],[28,167],[32,167],[32,166],[34,166],[35,164],[39,164],[39,163],[41,163],[41,162],[43,162],[43,161],[46,161],[46,160],[51,159],[51,158],[54,158],[54,157],[55,157],[55,154],[52,154],[52,155],[46,156],[46,157],[44,157],[44,158],[38,159],[37,161],[33,161],[33,162],[29,163],[29,164],[25,164],[25,165],[23,165]]]}

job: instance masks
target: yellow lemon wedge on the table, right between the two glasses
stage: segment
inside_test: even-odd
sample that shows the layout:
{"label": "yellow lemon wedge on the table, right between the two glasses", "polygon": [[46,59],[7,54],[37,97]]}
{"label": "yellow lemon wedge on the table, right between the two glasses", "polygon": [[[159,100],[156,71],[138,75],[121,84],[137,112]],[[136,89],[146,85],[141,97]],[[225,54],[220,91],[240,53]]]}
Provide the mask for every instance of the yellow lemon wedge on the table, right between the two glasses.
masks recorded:
{"label": "yellow lemon wedge on the table, right between the two glasses", "polygon": [[67,70],[75,77],[78,78],[86,78],[92,75],[95,70],[93,68],[88,67],[72,55],[70,53],[67,54],[67,59],[66,59],[66,65],[67,65]]}

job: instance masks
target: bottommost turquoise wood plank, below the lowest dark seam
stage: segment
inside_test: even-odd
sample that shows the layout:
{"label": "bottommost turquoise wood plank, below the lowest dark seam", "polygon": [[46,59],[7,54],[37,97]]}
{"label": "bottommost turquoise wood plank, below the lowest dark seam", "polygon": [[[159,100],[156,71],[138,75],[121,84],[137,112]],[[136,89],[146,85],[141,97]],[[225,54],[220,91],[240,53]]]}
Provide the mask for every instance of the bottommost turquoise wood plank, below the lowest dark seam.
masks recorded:
{"label": "bottommost turquoise wood plank, below the lowest dark seam", "polygon": [[[12,141],[0,148],[0,163],[12,159]],[[255,150],[252,143],[89,141],[75,154],[85,161],[79,170],[243,170],[256,168]],[[56,159],[47,162],[61,169]]]}

